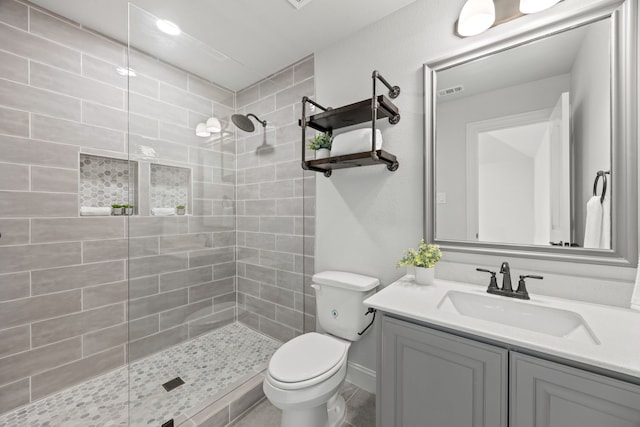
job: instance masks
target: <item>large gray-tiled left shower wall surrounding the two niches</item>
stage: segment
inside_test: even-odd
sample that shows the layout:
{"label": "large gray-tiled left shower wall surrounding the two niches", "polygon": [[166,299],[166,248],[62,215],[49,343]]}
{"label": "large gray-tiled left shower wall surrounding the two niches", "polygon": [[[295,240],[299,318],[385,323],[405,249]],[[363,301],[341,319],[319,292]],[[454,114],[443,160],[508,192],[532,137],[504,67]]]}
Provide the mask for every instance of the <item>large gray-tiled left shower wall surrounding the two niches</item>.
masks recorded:
{"label": "large gray-tiled left shower wall surrounding the two niches", "polygon": [[[124,364],[129,325],[137,359],[234,320],[234,137],[194,135],[229,122],[232,92],[133,55],[141,216],[78,215],[79,153],[127,159],[126,63],[123,45],[0,0],[0,412]],[[148,216],[151,163],[192,168],[193,216]]]}

